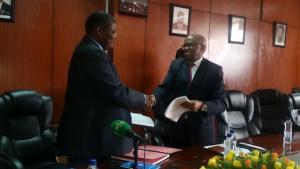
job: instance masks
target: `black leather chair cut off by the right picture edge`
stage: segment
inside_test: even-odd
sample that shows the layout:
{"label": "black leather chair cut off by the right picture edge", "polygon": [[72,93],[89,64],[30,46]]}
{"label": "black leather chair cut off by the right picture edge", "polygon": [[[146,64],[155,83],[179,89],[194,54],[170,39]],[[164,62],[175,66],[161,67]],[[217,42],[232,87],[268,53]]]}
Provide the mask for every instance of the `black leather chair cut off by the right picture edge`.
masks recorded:
{"label": "black leather chair cut off by the right picture edge", "polygon": [[300,93],[292,93],[290,94],[290,118],[293,122],[293,130],[300,131]]}

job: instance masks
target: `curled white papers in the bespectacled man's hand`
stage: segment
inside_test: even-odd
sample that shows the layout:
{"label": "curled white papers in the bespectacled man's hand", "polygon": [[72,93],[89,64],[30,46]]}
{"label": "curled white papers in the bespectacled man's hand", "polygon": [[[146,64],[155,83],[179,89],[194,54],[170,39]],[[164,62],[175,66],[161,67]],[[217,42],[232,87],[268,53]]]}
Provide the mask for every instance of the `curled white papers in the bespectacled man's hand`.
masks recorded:
{"label": "curled white papers in the bespectacled man's hand", "polygon": [[181,106],[183,102],[190,102],[190,100],[186,96],[181,96],[174,99],[166,109],[165,116],[168,119],[177,122],[184,112],[189,111],[189,109]]}

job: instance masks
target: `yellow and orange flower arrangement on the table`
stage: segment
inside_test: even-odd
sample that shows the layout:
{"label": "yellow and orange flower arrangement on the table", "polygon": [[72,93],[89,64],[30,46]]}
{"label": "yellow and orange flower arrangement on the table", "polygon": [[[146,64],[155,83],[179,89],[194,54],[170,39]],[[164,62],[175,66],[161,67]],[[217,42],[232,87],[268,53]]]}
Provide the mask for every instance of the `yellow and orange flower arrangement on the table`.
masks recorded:
{"label": "yellow and orange flower arrangement on the table", "polygon": [[214,156],[208,160],[207,166],[200,169],[300,169],[300,165],[286,157],[278,157],[277,153],[261,153],[253,150],[245,154],[241,152],[238,156],[230,151],[224,158]]}

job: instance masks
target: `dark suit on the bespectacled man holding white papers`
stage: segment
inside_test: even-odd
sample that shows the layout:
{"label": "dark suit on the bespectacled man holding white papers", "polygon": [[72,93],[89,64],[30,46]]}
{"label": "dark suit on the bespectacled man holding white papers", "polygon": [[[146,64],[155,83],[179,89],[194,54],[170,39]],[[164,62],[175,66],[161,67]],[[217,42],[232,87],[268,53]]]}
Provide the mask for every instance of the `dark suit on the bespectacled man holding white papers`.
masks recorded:
{"label": "dark suit on the bespectacled man holding white papers", "polygon": [[[212,116],[225,110],[225,91],[222,67],[203,58],[199,68],[188,85],[188,61],[186,58],[173,60],[169,71],[154,95],[157,106],[154,108],[158,118],[164,118],[164,111],[169,103],[176,97],[187,96],[190,100],[204,101],[207,112],[187,112],[187,119],[181,117],[179,122],[172,125],[185,123],[190,132],[190,143],[206,145],[213,141]],[[176,127],[175,127],[176,129]],[[172,131],[176,133],[176,131]],[[176,136],[179,138],[180,136]],[[172,139],[176,139],[172,138]]]}

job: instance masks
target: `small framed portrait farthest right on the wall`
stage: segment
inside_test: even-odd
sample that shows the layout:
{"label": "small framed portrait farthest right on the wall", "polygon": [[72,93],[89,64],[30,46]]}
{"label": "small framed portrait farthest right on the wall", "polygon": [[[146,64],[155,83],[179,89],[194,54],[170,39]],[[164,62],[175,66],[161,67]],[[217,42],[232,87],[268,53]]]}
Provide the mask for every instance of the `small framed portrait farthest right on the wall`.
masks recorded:
{"label": "small framed portrait farthest right on the wall", "polygon": [[287,24],[283,22],[273,22],[273,45],[285,48]]}

